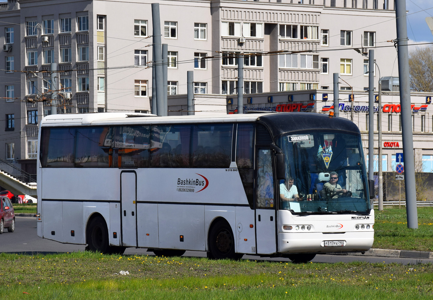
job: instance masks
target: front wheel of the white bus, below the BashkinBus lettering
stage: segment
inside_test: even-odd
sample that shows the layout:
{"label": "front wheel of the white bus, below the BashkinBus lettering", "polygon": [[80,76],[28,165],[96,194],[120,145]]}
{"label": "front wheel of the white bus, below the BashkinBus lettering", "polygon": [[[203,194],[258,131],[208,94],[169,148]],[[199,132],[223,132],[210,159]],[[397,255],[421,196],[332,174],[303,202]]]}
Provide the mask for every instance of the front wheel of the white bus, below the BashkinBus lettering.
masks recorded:
{"label": "front wheel of the white bus, below the BashkinBus lettering", "polygon": [[212,226],[208,242],[208,258],[237,260],[242,257],[242,254],[235,253],[235,239],[232,228],[226,220],[219,220]]}

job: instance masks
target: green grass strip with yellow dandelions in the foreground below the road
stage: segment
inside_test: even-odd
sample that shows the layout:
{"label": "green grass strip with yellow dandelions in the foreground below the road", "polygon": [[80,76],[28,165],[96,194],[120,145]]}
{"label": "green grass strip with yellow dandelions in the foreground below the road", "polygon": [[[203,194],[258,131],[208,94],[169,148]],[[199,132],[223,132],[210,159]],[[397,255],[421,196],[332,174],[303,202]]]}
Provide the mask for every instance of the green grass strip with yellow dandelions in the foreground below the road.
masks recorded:
{"label": "green grass strip with yellow dandelions in the foreground below the road", "polygon": [[[0,254],[3,299],[432,299],[433,265]],[[128,271],[129,275],[121,275]],[[27,294],[28,293],[28,294]]]}

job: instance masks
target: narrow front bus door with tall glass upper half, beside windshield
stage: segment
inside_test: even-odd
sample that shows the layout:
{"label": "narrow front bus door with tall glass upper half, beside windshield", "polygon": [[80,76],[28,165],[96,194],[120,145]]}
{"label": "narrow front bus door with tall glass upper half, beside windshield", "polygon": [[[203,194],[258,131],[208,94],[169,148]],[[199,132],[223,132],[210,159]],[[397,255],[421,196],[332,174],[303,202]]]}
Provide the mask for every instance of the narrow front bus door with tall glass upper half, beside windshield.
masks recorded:
{"label": "narrow front bus door with tall glass upper half, beside windshield", "polygon": [[257,149],[255,194],[255,235],[257,254],[277,252],[274,180],[269,148]]}

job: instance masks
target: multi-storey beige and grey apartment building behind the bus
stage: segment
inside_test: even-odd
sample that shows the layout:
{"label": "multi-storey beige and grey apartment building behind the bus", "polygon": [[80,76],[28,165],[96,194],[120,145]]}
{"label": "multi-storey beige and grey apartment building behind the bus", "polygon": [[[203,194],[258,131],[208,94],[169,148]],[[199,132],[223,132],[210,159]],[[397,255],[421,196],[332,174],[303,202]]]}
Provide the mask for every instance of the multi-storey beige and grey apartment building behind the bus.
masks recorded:
{"label": "multi-storey beige and grey apartment building behind the bus", "polygon": [[[150,110],[152,2],[1,3],[0,158],[36,173],[38,123],[51,112],[52,63],[58,113]],[[332,89],[333,73],[342,89],[365,90],[362,53],[370,48],[381,76],[398,76],[396,51],[386,42],[396,37],[388,0],[162,0],[159,7],[171,95],[187,93],[187,71],[194,71],[196,94],[236,94],[233,53],[245,55],[245,94]]]}

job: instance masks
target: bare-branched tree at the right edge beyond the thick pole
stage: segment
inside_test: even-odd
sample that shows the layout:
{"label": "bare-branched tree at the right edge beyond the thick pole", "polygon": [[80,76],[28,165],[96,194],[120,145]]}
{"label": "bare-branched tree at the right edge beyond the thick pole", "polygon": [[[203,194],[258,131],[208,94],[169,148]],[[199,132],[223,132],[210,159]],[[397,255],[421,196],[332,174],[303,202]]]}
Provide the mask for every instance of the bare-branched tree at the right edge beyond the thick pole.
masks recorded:
{"label": "bare-branched tree at the right edge beyond the thick pole", "polygon": [[433,45],[409,52],[410,88],[433,92]]}

